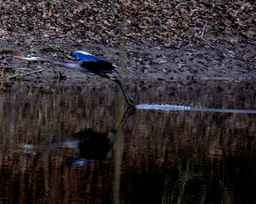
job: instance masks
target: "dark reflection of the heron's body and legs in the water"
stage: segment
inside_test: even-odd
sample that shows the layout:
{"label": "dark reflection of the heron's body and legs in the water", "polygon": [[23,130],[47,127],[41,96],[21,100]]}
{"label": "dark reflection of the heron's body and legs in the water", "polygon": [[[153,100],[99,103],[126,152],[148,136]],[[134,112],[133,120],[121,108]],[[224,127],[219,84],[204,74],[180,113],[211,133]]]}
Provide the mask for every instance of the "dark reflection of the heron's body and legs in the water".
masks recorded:
{"label": "dark reflection of the heron's body and legs in the water", "polygon": [[115,142],[118,133],[135,114],[136,109],[129,108],[124,112],[121,122],[110,133],[99,133],[91,128],[85,128],[75,133],[71,138],[58,142],[56,146],[75,149],[76,157],[73,164],[84,165],[86,162],[102,160],[106,157]]}

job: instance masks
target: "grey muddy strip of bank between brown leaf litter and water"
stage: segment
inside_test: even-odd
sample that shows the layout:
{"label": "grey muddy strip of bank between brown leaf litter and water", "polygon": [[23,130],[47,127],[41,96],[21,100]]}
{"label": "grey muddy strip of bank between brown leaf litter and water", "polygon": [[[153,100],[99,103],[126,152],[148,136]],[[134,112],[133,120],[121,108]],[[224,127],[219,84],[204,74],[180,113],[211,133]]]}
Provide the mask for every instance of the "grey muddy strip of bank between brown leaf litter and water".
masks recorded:
{"label": "grey muddy strip of bank between brown leaf litter and water", "polygon": [[[70,53],[85,50],[99,55],[118,66],[118,49],[102,44],[72,43],[58,44],[60,50],[54,52],[49,44],[35,47],[37,55],[55,60],[72,62]],[[225,79],[255,81],[256,79],[256,46],[253,44],[216,44],[213,46],[196,46],[189,44],[181,49],[171,49],[148,45],[127,44],[126,70],[120,71],[125,79],[144,80],[202,80]],[[17,45],[1,44],[0,68],[7,76],[22,75],[44,68],[37,75],[31,74],[26,79],[58,78],[59,71],[67,78],[90,79],[76,71],[49,65],[47,63],[28,63],[26,60],[12,58],[14,55],[28,55],[29,48]],[[5,76],[2,75],[2,79]],[[22,80],[24,77],[17,77]]]}

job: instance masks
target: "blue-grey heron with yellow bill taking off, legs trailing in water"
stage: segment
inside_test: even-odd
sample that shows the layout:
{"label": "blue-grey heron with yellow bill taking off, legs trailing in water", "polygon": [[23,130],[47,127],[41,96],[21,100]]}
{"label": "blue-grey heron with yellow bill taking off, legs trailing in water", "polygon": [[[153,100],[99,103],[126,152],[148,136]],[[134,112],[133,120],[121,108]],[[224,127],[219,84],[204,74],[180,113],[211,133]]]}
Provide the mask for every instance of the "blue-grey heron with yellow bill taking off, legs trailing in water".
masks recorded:
{"label": "blue-grey heron with yellow bill taking off, legs trailing in water", "polygon": [[74,56],[78,61],[75,63],[62,63],[49,58],[42,58],[37,55],[27,55],[26,57],[14,56],[14,58],[20,58],[29,61],[46,62],[56,66],[80,71],[84,74],[97,75],[101,76],[102,78],[110,79],[111,81],[116,82],[119,87],[121,87],[122,93],[124,94],[124,98],[127,101],[128,105],[136,109],[135,102],[133,101],[132,97],[129,95],[121,81],[108,75],[119,74],[116,70],[116,66],[113,66],[112,63],[103,58],[99,58],[96,55],[91,55],[89,52],[75,51],[72,52],[72,56]]}

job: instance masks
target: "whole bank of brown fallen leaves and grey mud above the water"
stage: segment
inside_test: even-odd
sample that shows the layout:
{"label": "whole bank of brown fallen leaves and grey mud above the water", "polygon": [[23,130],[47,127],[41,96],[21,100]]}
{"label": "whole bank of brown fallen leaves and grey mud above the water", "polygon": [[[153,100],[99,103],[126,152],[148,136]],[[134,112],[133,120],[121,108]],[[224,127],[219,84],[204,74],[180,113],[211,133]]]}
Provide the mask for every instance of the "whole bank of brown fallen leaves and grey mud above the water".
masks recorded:
{"label": "whole bank of brown fallen leaves and grey mud above the water", "polygon": [[[125,7],[124,7],[125,6]],[[0,1],[2,79],[84,79],[85,74],[12,58],[36,55],[65,62],[84,50],[119,63],[124,34],[127,79],[256,80],[256,6],[250,1]],[[58,48],[54,51],[53,46]],[[15,78],[12,78],[15,79]]]}

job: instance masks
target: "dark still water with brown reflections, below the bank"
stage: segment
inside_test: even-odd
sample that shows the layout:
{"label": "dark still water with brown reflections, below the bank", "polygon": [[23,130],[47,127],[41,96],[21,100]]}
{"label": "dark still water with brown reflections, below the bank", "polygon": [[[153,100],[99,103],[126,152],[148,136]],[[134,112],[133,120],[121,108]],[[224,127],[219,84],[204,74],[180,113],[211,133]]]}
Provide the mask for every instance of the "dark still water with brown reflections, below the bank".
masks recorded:
{"label": "dark still water with brown reflections, below the bank", "polygon": [[[254,84],[129,85],[140,104],[256,110]],[[0,203],[256,203],[256,114],[126,111],[116,85],[0,90]]]}

